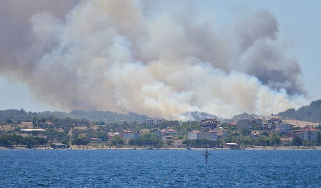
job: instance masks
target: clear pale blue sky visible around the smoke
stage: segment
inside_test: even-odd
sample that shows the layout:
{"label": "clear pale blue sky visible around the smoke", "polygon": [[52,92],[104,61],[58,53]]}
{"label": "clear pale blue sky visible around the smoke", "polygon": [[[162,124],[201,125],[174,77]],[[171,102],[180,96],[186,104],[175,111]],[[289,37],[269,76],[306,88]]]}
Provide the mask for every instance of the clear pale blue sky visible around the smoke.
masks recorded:
{"label": "clear pale blue sky visible around the smoke", "polygon": [[[278,38],[287,46],[302,69],[302,85],[306,90],[308,101],[321,99],[319,86],[321,25],[320,1],[208,1],[194,2],[195,9],[202,14],[215,13],[215,20],[224,28],[239,15],[247,15],[257,10],[268,10],[279,23]],[[201,16],[202,17],[202,16]],[[9,18],[10,20],[11,18]],[[2,62],[0,62],[2,63]],[[0,109],[20,109],[30,111],[64,110],[53,102],[37,100],[30,83],[8,78],[0,74]]]}

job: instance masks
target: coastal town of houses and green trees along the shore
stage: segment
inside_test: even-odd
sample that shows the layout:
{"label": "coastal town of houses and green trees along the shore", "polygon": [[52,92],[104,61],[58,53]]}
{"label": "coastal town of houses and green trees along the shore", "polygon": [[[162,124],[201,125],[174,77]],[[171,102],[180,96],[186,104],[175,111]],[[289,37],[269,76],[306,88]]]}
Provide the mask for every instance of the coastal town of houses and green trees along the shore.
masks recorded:
{"label": "coastal town of houses and green trees along the shore", "polygon": [[216,118],[183,122],[153,116],[142,123],[123,121],[119,124],[69,117],[34,117],[29,122],[8,119],[0,126],[0,145],[9,148],[244,149],[321,144],[320,124],[295,125],[289,121],[278,116],[250,116],[224,123]]}

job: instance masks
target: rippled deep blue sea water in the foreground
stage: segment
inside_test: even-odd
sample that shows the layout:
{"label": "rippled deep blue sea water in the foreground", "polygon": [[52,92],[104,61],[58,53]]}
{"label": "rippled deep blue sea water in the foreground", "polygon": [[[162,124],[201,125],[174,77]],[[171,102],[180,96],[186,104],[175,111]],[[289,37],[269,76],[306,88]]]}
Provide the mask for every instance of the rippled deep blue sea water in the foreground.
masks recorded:
{"label": "rippled deep blue sea water in the foreground", "polygon": [[321,187],[319,150],[0,150],[0,187]]}

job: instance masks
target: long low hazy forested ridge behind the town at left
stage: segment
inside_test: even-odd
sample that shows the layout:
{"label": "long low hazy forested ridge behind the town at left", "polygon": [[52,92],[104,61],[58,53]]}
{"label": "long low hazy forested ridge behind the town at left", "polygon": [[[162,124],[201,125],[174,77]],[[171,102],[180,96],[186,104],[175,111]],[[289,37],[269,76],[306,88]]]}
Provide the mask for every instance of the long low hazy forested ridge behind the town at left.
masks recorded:
{"label": "long low hazy forested ridge behind the town at left", "polygon": [[104,121],[104,122],[120,122],[120,121],[137,121],[143,122],[147,118],[144,115],[138,115],[135,113],[119,114],[110,111],[83,111],[73,110],[69,113],[66,112],[27,112],[24,109],[21,110],[0,110],[0,121],[4,122],[7,120],[11,121],[32,121],[33,118],[66,118],[70,117],[73,119],[87,119],[89,121]]}

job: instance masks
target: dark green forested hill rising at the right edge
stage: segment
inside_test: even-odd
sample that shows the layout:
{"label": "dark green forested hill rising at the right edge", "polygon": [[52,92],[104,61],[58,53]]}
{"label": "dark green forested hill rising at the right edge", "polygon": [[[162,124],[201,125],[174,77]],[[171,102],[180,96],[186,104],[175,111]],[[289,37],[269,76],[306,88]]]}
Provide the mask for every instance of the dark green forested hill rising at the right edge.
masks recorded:
{"label": "dark green forested hill rising at the right edge", "polygon": [[312,101],[310,105],[302,106],[298,110],[290,108],[278,115],[283,118],[321,123],[321,100]]}

